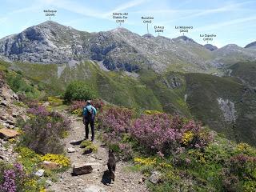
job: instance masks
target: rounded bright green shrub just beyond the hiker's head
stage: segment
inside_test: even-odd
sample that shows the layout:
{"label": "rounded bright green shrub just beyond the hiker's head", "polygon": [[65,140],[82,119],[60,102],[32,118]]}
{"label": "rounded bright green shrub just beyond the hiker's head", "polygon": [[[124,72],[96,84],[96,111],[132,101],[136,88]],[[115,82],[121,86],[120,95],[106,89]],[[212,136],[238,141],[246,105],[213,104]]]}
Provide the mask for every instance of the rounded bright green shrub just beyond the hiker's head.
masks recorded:
{"label": "rounded bright green shrub just beyond the hiker's head", "polygon": [[96,98],[96,92],[92,86],[87,85],[85,82],[71,82],[66,87],[64,99],[66,102],[74,100],[88,100]]}

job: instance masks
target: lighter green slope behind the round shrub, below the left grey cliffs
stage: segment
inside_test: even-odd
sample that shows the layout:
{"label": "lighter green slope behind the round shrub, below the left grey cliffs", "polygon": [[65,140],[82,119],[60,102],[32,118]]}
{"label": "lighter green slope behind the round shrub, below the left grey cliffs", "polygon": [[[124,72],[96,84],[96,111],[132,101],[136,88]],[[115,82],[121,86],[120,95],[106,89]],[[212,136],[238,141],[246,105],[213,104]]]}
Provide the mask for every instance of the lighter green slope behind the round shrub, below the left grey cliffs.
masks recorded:
{"label": "lighter green slope behind the round shrub, below the left grey cliffs", "polygon": [[67,84],[74,80],[86,81],[98,90],[101,98],[108,102],[127,107],[143,107],[146,109],[162,110],[153,91],[141,82],[126,75],[100,70],[93,62],[83,62],[77,67],[68,67],[58,78],[57,65],[38,65],[17,62],[14,64],[21,69],[26,77],[33,81],[49,85],[50,94],[61,94]]}

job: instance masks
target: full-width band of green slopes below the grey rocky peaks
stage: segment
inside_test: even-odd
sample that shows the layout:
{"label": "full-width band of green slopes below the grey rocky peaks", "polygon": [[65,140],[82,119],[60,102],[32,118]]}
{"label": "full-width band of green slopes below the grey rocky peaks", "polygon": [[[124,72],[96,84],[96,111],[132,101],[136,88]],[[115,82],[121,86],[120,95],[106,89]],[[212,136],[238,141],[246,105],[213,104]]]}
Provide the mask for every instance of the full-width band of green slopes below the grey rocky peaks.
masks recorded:
{"label": "full-width band of green slopes below the grey rocky peaks", "polygon": [[[1,66],[8,64],[2,63]],[[164,110],[168,113],[194,115],[194,118],[209,125],[229,138],[256,145],[256,97],[234,78],[219,78],[209,74],[181,74],[168,72],[163,75],[150,70],[141,70],[140,78],[130,78],[122,72],[101,70],[94,62],[83,62],[77,67],[66,67],[58,78],[57,65],[15,63],[26,77],[34,82],[44,82],[50,94],[61,94],[68,82],[74,79],[88,82],[98,90],[98,96],[108,102],[127,107],[142,107],[149,110]],[[250,66],[250,64],[248,64]],[[254,67],[254,66],[252,66]],[[245,69],[243,69],[245,70]],[[247,69],[233,73],[247,73]],[[249,72],[251,70],[249,69]],[[170,88],[166,82],[176,77],[182,82],[177,88]],[[245,76],[247,77],[247,76]],[[249,81],[249,80],[248,80]],[[250,78],[254,81],[254,78]],[[184,96],[187,94],[187,100]],[[234,102],[238,119],[227,124],[218,106],[217,99]]]}

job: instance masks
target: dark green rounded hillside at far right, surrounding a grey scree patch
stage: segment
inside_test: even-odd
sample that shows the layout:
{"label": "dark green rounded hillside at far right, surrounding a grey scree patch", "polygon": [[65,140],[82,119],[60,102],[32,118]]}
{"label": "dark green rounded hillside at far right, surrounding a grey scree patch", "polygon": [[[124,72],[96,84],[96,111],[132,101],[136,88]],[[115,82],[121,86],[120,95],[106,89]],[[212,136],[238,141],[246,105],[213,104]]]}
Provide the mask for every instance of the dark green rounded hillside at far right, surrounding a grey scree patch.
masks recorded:
{"label": "dark green rounded hillside at far right, surrounding a grey scree patch", "polygon": [[[234,78],[219,78],[206,74],[186,74],[187,102],[195,118],[208,124],[214,130],[226,134],[239,142],[245,141],[255,145],[256,97],[245,91],[245,86]],[[217,99],[229,99],[234,102],[237,120],[226,123]]]}

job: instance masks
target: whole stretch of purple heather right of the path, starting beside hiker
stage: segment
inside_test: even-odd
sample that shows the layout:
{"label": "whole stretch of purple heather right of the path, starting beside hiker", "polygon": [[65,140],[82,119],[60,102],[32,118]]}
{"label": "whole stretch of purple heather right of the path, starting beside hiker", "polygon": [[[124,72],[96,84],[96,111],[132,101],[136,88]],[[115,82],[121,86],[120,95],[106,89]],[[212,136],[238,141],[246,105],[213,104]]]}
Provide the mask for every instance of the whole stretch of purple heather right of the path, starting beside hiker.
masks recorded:
{"label": "whole stretch of purple heather right of the path, starting beside hiker", "polygon": [[[133,119],[132,110],[110,107],[98,117],[99,125],[106,130],[103,140],[108,143],[122,142],[123,135],[130,134],[140,146],[149,152],[163,156],[178,153],[181,148],[202,150],[213,139],[202,129],[201,123],[168,114],[142,114]],[[184,142],[184,135],[190,138]],[[119,150],[123,147],[119,146]]]}

